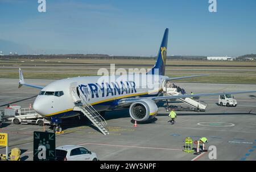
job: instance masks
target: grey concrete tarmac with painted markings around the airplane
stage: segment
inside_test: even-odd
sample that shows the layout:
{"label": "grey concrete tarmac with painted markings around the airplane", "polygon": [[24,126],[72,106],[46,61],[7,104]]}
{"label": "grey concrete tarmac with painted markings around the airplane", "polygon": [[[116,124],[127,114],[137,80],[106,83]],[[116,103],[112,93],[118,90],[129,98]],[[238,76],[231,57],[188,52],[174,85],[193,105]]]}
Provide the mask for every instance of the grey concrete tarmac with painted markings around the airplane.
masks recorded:
{"label": "grey concrete tarmac with painted markings around the airplane", "polygon": [[[53,80],[27,79],[27,83],[46,85]],[[249,84],[203,84],[175,83],[187,93],[213,93],[224,91],[256,90]],[[38,89],[22,87],[18,89],[18,79],[0,79],[0,106],[12,101],[35,96]],[[210,151],[199,155],[183,152],[184,140],[190,136],[197,140],[208,138],[207,148],[217,148],[216,160],[256,160],[256,94],[234,95],[237,107],[218,106],[217,96],[201,97],[208,104],[205,112],[176,111],[174,125],[168,123],[168,112],[159,108],[152,123],[138,123],[134,127],[129,110],[108,111],[105,114],[110,135],[95,130],[85,118],[72,118],[65,122],[64,134],[56,134],[56,147],[60,145],[81,145],[95,152],[100,160],[185,160],[208,161]],[[35,98],[17,102],[16,105],[27,108]],[[181,105],[174,102],[169,105]],[[4,109],[5,106],[0,107]],[[45,127],[51,132],[49,126]],[[9,149],[18,147],[22,151],[22,160],[33,159],[33,132],[44,131],[43,127],[28,124],[3,123],[0,132],[9,134]],[[0,147],[0,153],[5,148]]]}

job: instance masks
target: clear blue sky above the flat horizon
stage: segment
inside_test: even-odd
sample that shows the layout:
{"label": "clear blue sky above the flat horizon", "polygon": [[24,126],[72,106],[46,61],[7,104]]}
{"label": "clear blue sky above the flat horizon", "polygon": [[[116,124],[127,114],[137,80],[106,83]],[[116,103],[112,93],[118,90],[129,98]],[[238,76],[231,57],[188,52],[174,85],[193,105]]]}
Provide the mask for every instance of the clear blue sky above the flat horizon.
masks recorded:
{"label": "clear blue sky above the flat horizon", "polygon": [[0,50],[8,54],[153,55],[165,28],[168,55],[256,54],[256,1],[0,0]]}

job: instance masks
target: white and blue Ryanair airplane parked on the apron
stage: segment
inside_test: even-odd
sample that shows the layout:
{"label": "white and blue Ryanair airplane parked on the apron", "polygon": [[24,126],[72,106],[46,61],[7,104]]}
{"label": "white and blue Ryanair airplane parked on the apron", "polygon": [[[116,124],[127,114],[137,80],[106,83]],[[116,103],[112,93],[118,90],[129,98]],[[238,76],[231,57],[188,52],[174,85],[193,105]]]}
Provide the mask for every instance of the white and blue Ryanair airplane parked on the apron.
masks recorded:
{"label": "white and blue Ryanair airplane parked on the apron", "polygon": [[[192,78],[202,75],[183,76],[169,78],[164,76],[167,57],[168,28],[164,32],[160,45],[157,61],[147,74],[127,74],[126,76],[85,76],[67,78],[53,81],[46,87],[27,84],[24,81],[22,71],[19,69],[19,88],[22,85],[40,89],[33,108],[43,117],[61,122],[62,118],[70,118],[81,115],[81,111],[74,110],[81,99],[87,105],[93,106],[98,112],[117,108],[129,108],[131,118],[136,121],[149,121],[158,113],[156,102],[175,98],[217,96],[222,94],[253,93],[225,92],[203,93],[193,95],[160,96],[164,83],[170,80]],[[154,78],[154,81],[141,83],[143,79]],[[109,79],[112,78],[112,79]],[[119,78],[122,78],[121,80]]]}

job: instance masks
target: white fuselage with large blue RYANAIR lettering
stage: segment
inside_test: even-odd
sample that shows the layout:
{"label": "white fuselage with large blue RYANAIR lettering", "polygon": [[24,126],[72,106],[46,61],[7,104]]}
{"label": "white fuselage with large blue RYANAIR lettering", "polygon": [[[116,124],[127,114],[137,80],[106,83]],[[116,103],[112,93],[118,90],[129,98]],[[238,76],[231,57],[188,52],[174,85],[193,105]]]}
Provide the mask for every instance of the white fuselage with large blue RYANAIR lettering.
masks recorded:
{"label": "white fuselage with large blue RYANAIR lettering", "polygon": [[[143,77],[147,77],[147,81]],[[134,74],[61,79],[41,90],[33,108],[46,117],[73,117],[80,115],[73,108],[77,99],[83,96],[86,103],[93,105],[97,111],[113,109],[122,98],[156,96],[162,91],[162,83],[166,78],[168,77],[161,75]],[[77,89],[80,89],[82,95],[77,95]]]}

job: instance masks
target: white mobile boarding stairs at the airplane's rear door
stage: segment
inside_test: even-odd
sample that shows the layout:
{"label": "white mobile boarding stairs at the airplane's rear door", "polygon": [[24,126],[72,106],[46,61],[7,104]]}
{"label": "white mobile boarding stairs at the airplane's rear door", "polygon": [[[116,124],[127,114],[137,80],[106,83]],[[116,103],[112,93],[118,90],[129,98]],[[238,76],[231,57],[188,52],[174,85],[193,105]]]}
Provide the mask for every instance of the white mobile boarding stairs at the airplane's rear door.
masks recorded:
{"label": "white mobile boarding stairs at the airplane's rear door", "polygon": [[[165,94],[169,96],[178,96],[180,95],[179,92],[177,92],[177,88],[166,88]],[[197,102],[193,100],[192,98],[177,98],[179,101],[184,102],[185,104],[192,106],[193,108],[196,108],[199,111],[205,111],[207,108],[207,105],[202,104],[201,102]]]}

